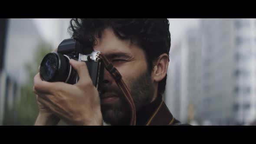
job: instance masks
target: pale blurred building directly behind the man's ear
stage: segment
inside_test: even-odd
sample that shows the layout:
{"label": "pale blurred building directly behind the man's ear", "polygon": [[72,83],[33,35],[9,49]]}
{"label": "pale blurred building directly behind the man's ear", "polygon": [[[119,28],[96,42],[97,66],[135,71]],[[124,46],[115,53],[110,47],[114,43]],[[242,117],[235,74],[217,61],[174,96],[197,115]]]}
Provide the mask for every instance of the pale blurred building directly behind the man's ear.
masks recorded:
{"label": "pale blurred building directly behind the man's ear", "polygon": [[[182,122],[194,121],[201,96],[201,49],[198,29],[188,29],[180,43],[170,50],[165,101],[174,117]],[[197,99],[196,99],[197,98]]]}

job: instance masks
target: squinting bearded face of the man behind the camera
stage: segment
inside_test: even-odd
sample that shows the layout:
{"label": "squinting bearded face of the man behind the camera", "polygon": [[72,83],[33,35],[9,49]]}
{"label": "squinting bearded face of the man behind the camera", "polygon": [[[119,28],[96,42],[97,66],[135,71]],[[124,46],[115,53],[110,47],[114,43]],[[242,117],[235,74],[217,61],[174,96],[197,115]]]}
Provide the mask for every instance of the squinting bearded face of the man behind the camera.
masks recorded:
{"label": "squinting bearded face of the man behind the camera", "polygon": [[[145,53],[129,40],[120,40],[112,29],[105,29],[94,50],[102,52],[120,72],[135,102],[136,110],[151,102],[154,94],[151,72]],[[130,108],[121,90],[108,71],[104,72],[101,98],[102,116],[110,124],[128,124]]]}

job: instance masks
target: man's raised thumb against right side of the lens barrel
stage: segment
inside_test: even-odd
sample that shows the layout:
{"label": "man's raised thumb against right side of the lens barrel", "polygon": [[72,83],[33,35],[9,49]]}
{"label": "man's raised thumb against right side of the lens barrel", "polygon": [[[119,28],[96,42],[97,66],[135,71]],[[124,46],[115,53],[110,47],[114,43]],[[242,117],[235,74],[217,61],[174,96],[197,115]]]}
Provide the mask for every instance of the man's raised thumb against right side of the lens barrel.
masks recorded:
{"label": "man's raised thumb against right side of the lens barrel", "polygon": [[74,59],[70,59],[70,64],[76,70],[79,75],[79,82],[92,83],[92,79],[89,75],[87,65],[85,62],[78,62]]}

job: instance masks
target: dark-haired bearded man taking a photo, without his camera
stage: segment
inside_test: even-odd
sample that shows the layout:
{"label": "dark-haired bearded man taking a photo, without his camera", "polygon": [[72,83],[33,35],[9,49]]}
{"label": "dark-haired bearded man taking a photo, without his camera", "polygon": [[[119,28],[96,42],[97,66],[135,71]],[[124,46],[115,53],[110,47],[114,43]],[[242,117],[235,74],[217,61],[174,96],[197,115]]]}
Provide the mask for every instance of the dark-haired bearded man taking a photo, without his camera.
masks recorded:
{"label": "dark-haired bearded man taking a photo, without his camera", "polygon": [[[175,125],[162,95],[165,90],[171,36],[167,19],[72,19],[72,37],[102,52],[120,72],[136,108],[136,125]],[[39,115],[35,125],[128,125],[130,108],[115,80],[104,72],[98,94],[85,62],[70,60],[75,85],[34,78]]]}

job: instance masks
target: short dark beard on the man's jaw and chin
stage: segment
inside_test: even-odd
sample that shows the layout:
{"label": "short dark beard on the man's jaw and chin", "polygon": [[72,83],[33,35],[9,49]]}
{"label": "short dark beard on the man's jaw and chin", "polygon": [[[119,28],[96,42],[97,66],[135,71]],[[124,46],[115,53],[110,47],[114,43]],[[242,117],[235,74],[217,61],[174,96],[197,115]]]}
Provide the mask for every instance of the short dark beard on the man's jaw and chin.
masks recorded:
{"label": "short dark beard on the man's jaw and chin", "polygon": [[[136,111],[151,102],[154,96],[154,86],[148,71],[130,80],[126,85],[131,92]],[[128,125],[131,120],[131,108],[118,85],[104,87],[103,92],[113,92],[119,98],[114,104],[101,105],[103,120],[112,125]]]}

